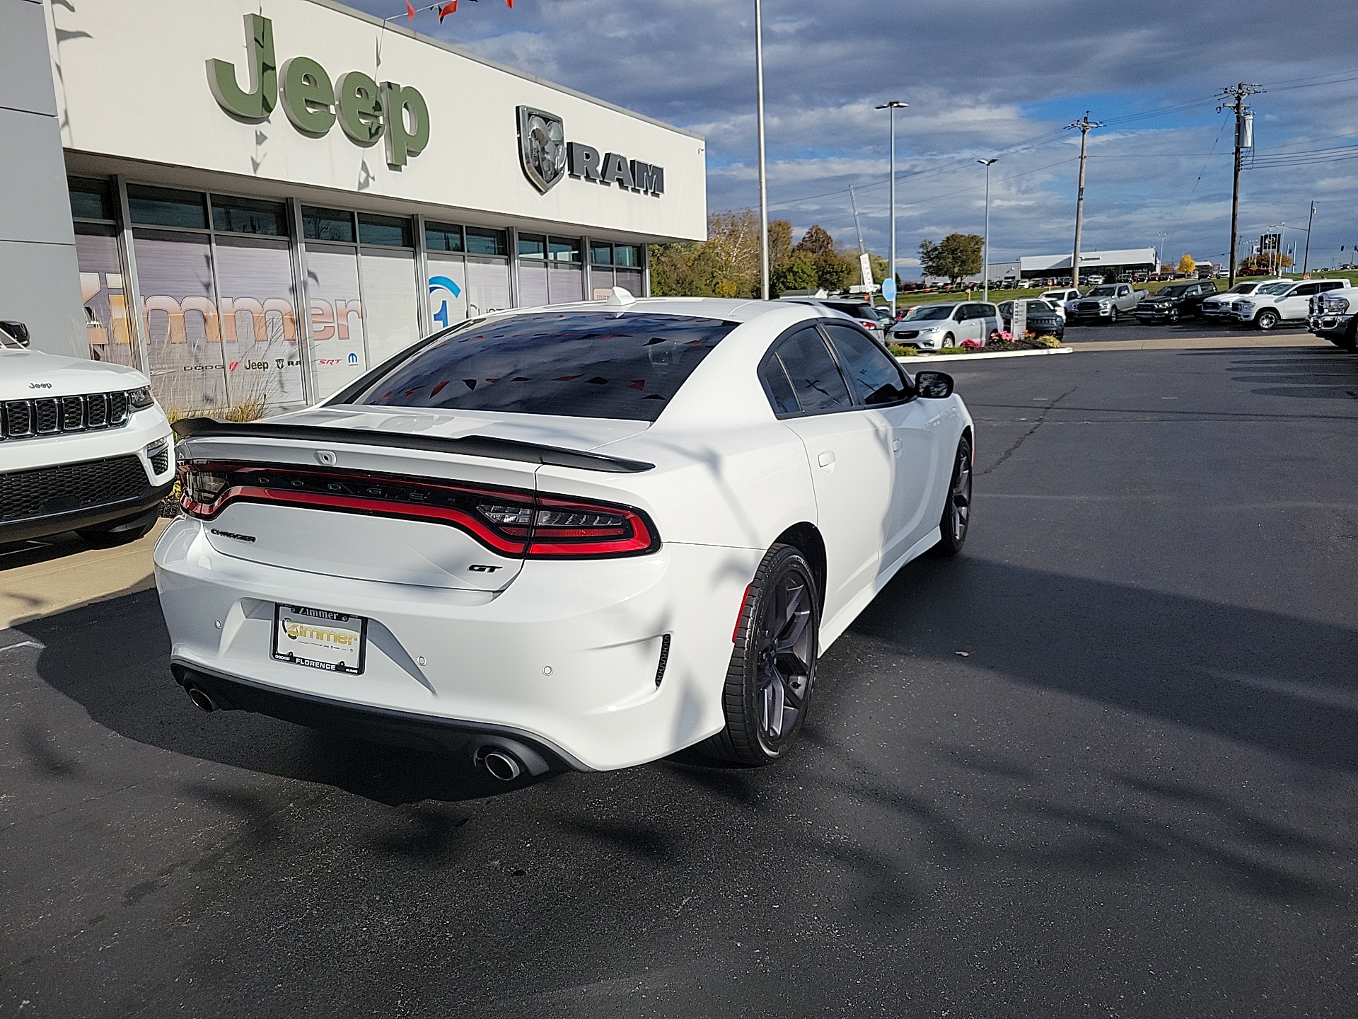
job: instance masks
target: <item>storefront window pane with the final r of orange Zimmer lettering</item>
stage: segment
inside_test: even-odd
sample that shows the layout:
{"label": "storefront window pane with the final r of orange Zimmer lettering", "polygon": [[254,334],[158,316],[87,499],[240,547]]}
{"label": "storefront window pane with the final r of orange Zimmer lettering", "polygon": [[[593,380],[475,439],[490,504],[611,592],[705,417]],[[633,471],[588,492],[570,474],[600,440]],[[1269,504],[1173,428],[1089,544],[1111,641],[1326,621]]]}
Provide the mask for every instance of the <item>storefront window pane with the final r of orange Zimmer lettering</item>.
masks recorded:
{"label": "storefront window pane with the final r of orange Zimmer lettering", "polygon": [[368,370],[357,249],[307,245],[307,302],[316,380],[312,395],[325,399]]}

